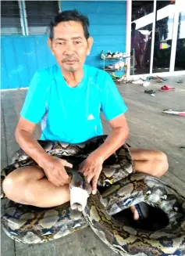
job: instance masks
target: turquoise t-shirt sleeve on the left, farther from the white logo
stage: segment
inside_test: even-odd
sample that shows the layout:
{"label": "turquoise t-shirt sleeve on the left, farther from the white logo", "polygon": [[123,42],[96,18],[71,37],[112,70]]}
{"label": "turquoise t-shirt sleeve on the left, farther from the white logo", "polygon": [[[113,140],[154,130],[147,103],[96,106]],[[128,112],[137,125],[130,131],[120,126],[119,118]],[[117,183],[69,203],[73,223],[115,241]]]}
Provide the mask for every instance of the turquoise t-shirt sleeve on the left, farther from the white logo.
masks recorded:
{"label": "turquoise t-shirt sleeve on the left, farther from the white logo", "polygon": [[41,121],[45,113],[46,106],[46,90],[45,90],[44,74],[36,72],[30,81],[26,99],[20,116],[34,124]]}

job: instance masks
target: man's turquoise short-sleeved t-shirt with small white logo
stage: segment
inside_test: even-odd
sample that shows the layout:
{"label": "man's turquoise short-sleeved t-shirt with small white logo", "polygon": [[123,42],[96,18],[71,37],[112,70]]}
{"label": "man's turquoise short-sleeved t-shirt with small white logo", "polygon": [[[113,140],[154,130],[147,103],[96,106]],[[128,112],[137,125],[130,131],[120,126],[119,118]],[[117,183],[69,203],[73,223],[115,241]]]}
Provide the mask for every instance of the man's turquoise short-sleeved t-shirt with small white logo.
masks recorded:
{"label": "man's turquoise short-sleeved t-shirt with small white logo", "polygon": [[55,64],[34,74],[20,115],[35,124],[41,121],[41,139],[80,143],[103,134],[101,112],[110,121],[126,110],[104,70],[84,65],[84,78],[71,88]]}

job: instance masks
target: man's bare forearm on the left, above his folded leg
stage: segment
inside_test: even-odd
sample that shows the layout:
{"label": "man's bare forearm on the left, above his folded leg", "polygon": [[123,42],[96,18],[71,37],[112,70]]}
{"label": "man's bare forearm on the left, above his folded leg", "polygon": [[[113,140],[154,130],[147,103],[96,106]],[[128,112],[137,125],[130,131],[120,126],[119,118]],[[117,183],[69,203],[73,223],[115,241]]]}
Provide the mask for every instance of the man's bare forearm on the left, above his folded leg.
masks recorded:
{"label": "man's bare forearm on the left, above his folded leg", "polygon": [[16,142],[19,143],[27,155],[34,159],[39,166],[42,166],[48,154],[43,150],[41,145],[34,139],[34,136],[25,130],[16,131]]}

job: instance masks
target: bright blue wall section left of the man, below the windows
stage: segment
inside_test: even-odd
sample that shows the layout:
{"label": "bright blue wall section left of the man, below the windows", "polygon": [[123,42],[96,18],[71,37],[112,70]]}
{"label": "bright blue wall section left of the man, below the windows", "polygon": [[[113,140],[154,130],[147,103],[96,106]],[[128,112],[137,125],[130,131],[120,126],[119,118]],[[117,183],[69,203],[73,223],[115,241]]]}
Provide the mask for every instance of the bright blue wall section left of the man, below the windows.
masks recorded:
{"label": "bright blue wall section left of the man, below the windows", "polygon": [[47,35],[2,37],[1,88],[27,87],[36,70],[55,63],[47,38]]}

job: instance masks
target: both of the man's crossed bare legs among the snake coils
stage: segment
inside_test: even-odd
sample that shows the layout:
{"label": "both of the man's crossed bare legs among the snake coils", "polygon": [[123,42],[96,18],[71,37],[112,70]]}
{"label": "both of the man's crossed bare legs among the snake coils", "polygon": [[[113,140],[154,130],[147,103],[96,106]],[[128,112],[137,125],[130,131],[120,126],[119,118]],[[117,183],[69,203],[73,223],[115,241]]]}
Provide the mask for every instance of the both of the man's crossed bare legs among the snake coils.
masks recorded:
{"label": "both of the man's crossed bare legs among the snake coils", "polygon": [[[160,177],[168,170],[164,153],[130,148],[136,172]],[[20,204],[37,207],[55,207],[69,201],[69,185],[54,186],[38,167],[25,167],[12,171],[2,184],[6,197]],[[131,207],[133,218],[138,219],[136,207]]]}

